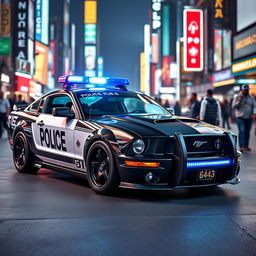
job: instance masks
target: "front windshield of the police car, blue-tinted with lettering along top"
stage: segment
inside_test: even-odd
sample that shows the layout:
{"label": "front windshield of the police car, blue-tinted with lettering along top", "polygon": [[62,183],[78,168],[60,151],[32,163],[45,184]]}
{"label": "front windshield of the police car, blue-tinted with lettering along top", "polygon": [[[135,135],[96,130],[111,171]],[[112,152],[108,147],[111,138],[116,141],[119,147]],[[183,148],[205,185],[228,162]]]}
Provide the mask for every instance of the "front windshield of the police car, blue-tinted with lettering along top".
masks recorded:
{"label": "front windshield of the police car, blue-tinted with lettering along top", "polygon": [[133,92],[76,93],[85,116],[170,113],[150,97]]}

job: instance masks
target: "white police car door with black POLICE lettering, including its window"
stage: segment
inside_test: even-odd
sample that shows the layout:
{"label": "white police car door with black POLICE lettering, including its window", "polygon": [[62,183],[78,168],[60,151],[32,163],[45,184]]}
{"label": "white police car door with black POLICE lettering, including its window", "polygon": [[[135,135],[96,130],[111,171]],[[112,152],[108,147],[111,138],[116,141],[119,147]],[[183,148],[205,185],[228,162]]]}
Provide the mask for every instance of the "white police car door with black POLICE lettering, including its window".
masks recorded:
{"label": "white police car door with black POLICE lettering, including its window", "polygon": [[67,94],[47,97],[37,121],[32,125],[33,139],[38,157],[45,162],[73,168],[74,128],[77,118],[53,116],[55,107],[72,108],[72,99]]}

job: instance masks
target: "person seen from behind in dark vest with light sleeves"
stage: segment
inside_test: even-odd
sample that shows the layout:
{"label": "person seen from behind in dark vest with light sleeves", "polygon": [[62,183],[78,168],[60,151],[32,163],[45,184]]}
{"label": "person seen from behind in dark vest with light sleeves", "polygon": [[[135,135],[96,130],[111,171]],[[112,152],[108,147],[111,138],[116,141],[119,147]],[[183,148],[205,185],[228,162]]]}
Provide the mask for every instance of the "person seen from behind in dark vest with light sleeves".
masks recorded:
{"label": "person seen from behind in dark vest with light sleeves", "polygon": [[213,97],[213,90],[208,89],[206,97],[202,100],[200,119],[212,125],[219,125],[221,118],[220,103]]}

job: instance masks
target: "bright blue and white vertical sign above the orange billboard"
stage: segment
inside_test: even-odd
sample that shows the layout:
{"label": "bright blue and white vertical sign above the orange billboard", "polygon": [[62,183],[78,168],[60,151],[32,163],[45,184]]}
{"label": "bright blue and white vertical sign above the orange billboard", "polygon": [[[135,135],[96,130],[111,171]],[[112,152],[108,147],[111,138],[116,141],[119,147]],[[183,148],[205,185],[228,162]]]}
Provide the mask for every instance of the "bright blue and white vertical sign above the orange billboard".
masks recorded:
{"label": "bright blue and white vertical sign above the orange billboard", "polygon": [[49,0],[36,0],[36,40],[49,43]]}

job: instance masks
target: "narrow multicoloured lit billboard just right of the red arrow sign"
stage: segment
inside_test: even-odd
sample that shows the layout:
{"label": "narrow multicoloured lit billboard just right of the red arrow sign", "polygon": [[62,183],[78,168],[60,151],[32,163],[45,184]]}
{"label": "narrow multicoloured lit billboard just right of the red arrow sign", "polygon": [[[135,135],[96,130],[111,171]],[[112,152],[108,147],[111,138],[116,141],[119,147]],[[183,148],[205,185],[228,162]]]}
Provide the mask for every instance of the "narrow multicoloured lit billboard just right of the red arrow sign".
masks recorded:
{"label": "narrow multicoloured lit billboard just right of the red arrow sign", "polygon": [[222,31],[214,30],[214,70],[218,71],[222,69]]}

